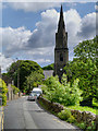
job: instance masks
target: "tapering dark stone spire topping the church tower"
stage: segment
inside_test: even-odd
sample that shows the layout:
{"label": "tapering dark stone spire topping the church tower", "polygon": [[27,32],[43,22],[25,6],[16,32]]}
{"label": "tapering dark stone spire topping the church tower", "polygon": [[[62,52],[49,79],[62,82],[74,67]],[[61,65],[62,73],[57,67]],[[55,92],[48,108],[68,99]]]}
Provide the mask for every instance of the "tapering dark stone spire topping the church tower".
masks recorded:
{"label": "tapering dark stone spire topping the church tower", "polygon": [[61,11],[60,11],[60,20],[59,20],[58,31],[65,29],[64,26],[65,25],[64,25],[64,20],[63,20],[63,9],[62,9],[62,4],[61,4]]}

